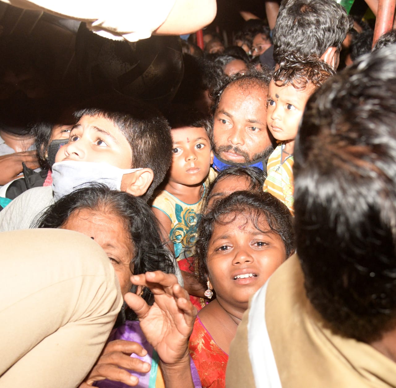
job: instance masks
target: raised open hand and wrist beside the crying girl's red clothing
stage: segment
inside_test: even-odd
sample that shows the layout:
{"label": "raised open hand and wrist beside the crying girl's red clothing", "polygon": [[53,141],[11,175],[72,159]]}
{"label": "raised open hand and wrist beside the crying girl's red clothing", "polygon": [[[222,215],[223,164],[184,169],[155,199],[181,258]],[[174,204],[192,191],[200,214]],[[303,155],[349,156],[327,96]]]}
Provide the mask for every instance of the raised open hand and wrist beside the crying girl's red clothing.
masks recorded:
{"label": "raised open hand and wrist beside the crying girl's red clothing", "polygon": [[197,310],[187,291],[177,283],[174,275],[161,271],[134,275],[131,281],[135,285],[149,287],[154,294],[152,306],[132,293],[127,293],[124,299],[137,314],[146,339],[160,357],[166,387],[194,387],[188,339]]}

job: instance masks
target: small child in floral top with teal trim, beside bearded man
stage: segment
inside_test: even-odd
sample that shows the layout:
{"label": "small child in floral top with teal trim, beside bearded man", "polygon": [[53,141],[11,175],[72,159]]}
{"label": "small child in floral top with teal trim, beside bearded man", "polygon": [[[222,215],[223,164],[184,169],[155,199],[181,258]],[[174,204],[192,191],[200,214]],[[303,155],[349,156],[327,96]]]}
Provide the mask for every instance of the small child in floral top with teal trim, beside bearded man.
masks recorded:
{"label": "small child in floral top with teal trim, beside bearded man", "polygon": [[[152,210],[164,239],[173,243],[177,260],[194,255],[202,199],[208,188],[213,152],[210,123],[198,111],[178,108],[168,117],[173,141],[172,164],[164,189],[157,192]],[[209,170],[211,173],[209,174]],[[207,181],[207,182],[206,182]]]}

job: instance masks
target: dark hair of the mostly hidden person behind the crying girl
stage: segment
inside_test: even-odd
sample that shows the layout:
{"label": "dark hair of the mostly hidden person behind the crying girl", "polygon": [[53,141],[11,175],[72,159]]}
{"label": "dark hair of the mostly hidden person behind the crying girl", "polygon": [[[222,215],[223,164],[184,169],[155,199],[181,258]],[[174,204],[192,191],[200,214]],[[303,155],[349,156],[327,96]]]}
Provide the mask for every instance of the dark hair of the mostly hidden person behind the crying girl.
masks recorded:
{"label": "dark hair of the mostly hidden person behind the crying girl", "polygon": [[249,191],[263,191],[264,181],[267,177],[267,173],[263,171],[259,167],[240,167],[240,166],[230,166],[221,170],[215,180],[209,185],[208,193],[204,198],[204,203],[202,204],[202,213],[204,213],[208,207],[208,203],[210,200],[215,198],[215,196],[221,195],[215,194],[211,195],[213,188],[215,188],[216,184],[224,178],[227,177],[244,177],[247,181],[249,181]]}

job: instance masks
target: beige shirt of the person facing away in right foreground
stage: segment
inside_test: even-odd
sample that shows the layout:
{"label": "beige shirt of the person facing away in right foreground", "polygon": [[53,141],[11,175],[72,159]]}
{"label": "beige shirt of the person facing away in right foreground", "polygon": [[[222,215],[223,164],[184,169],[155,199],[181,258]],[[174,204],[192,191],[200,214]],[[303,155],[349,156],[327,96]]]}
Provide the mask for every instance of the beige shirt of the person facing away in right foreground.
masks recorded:
{"label": "beige shirt of the person facing away in right foreground", "polygon": [[271,374],[278,373],[284,388],[396,387],[396,363],[372,346],[336,335],[326,327],[307,299],[296,255],[276,270],[262,295],[264,316],[255,317],[249,308],[231,343],[227,388],[256,387],[258,381],[268,380],[266,365],[260,373],[254,374],[252,369],[264,359],[263,352],[250,351],[256,333],[249,333],[249,321],[256,318],[265,321],[268,347],[277,367]]}

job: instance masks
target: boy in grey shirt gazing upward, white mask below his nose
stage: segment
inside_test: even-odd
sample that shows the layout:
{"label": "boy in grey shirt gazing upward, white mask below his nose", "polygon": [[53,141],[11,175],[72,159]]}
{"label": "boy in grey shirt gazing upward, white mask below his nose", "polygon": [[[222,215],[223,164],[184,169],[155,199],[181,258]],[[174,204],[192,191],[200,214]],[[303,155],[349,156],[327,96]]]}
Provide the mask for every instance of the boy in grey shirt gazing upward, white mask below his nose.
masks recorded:
{"label": "boy in grey shirt gazing upward, white mask below his nose", "polygon": [[[0,231],[27,229],[55,199],[77,186],[101,182],[148,200],[171,163],[171,136],[165,118],[151,106],[105,95],[74,113],[69,143],[53,165],[53,186],[27,190],[0,212]],[[55,195],[54,195],[55,194]]]}

